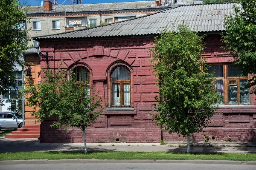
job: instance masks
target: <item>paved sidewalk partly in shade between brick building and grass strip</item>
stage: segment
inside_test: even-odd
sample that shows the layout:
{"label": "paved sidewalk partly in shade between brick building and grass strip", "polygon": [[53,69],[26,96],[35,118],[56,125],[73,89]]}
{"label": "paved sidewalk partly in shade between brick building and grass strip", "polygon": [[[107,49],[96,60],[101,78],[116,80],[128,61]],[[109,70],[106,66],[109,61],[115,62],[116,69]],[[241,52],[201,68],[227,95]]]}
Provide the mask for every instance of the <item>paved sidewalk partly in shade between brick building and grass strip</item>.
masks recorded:
{"label": "paved sidewalk partly in shade between brick building and grass strip", "polygon": [[[194,144],[195,145],[195,144]],[[191,152],[204,153],[256,153],[256,144],[239,142],[205,142],[196,143]],[[206,146],[204,146],[206,145]],[[225,146],[224,146],[225,145]],[[30,152],[30,151],[74,151],[83,150],[83,143],[39,143],[33,139],[6,139],[0,138],[0,153],[2,152]],[[248,147],[249,146],[249,147]],[[160,143],[87,143],[88,151],[127,151],[127,152],[186,152],[186,142],[171,142],[166,145]]]}

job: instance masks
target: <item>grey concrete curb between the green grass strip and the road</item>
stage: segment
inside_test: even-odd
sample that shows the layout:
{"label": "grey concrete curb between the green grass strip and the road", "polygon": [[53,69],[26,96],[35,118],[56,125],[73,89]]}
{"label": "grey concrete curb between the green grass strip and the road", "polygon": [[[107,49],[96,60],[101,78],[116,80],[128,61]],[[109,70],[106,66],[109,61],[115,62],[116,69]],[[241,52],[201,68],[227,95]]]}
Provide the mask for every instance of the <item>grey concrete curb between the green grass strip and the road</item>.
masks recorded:
{"label": "grey concrete curb between the green grass strip and the road", "polygon": [[1,165],[13,164],[74,164],[74,163],[169,163],[169,164],[234,164],[256,165],[256,161],[215,161],[215,160],[108,160],[108,159],[32,159],[16,161],[0,161]]}

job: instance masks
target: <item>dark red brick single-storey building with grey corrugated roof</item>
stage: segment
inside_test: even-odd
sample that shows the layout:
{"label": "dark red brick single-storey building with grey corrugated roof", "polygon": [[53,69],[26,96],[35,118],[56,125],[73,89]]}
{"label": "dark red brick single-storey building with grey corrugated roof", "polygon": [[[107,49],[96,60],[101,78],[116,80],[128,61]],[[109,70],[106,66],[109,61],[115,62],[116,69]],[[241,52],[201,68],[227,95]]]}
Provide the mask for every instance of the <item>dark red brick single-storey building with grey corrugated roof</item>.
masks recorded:
{"label": "dark red brick single-storey building with grey corrugated roof", "polygon": [[[108,105],[97,123],[87,128],[87,142],[159,142],[161,136],[167,141],[184,140],[160,130],[151,120],[158,89],[148,62],[154,37],[164,28],[171,29],[184,20],[199,34],[207,34],[203,55],[215,70],[216,92],[223,97],[218,103],[218,114],[212,117],[205,133],[197,134],[192,140],[203,141],[204,134],[208,134],[212,141],[227,140],[230,136],[233,141],[250,142],[256,140],[256,101],[255,95],[248,94],[249,89],[242,86],[250,75],[238,77],[240,71],[233,65],[233,58],[221,48],[223,18],[234,13],[233,5],[178,6],[144,17],[34,40],[40,42],[43,54],[48,51],[53,56],[50,68],[55,69],[62,62],[64,68],[77,75],[81,70],[90,73],[87,75],[90,75],[91,95],[92,90],[99,90],[103,103]],[[41,68],[46,67],[44,59],[40,64]],[[41,142],[83,142],[81,130],[52,129],[51,122],[48,119],[41,123]]]}

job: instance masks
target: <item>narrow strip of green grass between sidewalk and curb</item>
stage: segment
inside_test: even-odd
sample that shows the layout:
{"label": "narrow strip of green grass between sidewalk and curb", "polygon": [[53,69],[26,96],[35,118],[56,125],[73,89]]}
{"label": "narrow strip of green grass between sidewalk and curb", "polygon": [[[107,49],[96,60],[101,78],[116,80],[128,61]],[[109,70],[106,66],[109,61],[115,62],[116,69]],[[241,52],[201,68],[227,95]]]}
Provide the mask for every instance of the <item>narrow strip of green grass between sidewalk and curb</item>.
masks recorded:
{"label": "narrow strip of green grass between sidewalk and curb", "polygon": [[62,151],[62,152],[16,152],[0,153],[3,160],[29,160],[29,159],[166,159],[166,160],[230,160],[230,161],[256,161],[256,153],[183,153],[183,152],[88,152]]}

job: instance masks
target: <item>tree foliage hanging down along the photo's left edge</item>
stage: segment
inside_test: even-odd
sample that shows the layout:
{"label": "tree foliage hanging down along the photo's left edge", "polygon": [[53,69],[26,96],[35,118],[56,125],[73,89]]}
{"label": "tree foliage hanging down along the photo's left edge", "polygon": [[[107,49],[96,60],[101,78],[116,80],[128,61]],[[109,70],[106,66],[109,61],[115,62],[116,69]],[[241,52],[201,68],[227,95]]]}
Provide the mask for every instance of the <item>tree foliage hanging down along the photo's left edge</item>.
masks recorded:
{"label": "tree foliage hanging down along the photo's left edge", "polygon": [[[0,0],[0,94],[15,84],[15,63],[23,65],[21,54],[27,49],[26,8],[19,0]],[[3,105],[2,99],[0,104]]]}

